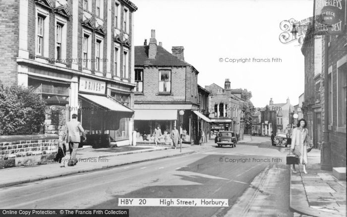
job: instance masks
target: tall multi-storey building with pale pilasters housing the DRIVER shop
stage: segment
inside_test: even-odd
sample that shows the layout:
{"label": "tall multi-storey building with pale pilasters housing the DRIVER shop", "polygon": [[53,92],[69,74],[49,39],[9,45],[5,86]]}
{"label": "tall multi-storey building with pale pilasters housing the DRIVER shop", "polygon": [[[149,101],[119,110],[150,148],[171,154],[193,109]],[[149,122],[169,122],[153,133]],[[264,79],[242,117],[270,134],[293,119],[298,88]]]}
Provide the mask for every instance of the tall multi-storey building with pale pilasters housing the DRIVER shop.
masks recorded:
{"label": "tall multi-storey building with pale pilasters housing the DRIVER shop", "polygon": [[[2,4],[1,82],[32,86],[42,100],[66,100],[66,116],[77,113],[91,137],[131,144],[136,5],[129,0]],[[111,111],[105,115],[105,109]]]}

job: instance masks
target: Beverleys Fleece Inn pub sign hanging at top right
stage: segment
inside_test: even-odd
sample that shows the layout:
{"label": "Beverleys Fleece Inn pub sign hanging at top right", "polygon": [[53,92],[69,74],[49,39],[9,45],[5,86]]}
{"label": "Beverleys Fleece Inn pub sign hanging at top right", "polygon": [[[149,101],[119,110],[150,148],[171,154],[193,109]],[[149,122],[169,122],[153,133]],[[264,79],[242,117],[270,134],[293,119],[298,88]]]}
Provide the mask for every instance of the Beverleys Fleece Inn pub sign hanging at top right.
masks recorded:
{"label": "Beverleys Fleece Inn pub sign hanging at top right", "polygon": [[347,0],[315,0],[315,35],[345,34]]}

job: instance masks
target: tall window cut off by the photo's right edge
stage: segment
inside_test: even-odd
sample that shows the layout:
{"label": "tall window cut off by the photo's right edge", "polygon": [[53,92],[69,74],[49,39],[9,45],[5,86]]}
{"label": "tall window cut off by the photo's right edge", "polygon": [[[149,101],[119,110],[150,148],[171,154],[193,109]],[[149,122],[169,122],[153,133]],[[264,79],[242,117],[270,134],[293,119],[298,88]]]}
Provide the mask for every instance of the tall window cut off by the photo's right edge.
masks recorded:
{"label": "tall window cut off by the photo's right edge", "polygon": [[347,85],[347,63],[343,64],[338,68],[338,111],[339,118],[338,123],[339,126],[346,126],[346,85]]}

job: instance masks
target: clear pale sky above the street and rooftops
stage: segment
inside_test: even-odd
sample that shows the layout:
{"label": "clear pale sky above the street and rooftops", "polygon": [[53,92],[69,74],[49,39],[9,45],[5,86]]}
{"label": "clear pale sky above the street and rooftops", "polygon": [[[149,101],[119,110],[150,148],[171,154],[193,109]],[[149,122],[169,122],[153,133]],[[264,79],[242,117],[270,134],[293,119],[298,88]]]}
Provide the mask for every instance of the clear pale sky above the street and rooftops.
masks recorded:
{"label": "clear pale sky above the street and rooftops", "polygon": [[[313,14],[313,0],[132,0],[134,45],[143,45],[156,30],[157,43],[171,52],[184,47],[184,60],[198,71],[202,87],[215,83],[224,88],[252,92],[254,107],[274,103],[298,104],[304,92],[304,56],[294,41],[283,44],[280,23],[303,20]],[[220,61],[220,58],[222,58]],[[250,61],[230,62],[230,59]],[[254,58],[254,59],[253,59]],[[257,59],[270,62],[257,62]],[[276,62],[272,58],[281,58]],[[248,59],[249,60],[249,59]],[[229,61],[229,62],[227,62]]]}

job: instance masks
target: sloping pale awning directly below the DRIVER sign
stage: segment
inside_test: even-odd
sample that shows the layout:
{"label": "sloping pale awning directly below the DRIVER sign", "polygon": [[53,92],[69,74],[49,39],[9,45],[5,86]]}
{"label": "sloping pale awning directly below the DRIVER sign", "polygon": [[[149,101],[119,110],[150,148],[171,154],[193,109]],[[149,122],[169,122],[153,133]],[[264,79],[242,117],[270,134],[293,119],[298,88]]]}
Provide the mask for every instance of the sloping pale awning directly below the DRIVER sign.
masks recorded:
{"label": "sloping pale awning directly below the DRIVER sign", "polygon": [[121,112],[131,112],[134,111],[124,106],[121,103],[116,102],[115,100],[111,100],[104,96],[98,95],[90,95],[90,94],[78,94],[82,99],[89,101],[92,104],[96,104],[97,106],[105,107],[112,111],[121,111]]}

